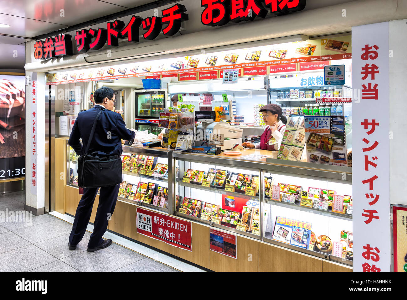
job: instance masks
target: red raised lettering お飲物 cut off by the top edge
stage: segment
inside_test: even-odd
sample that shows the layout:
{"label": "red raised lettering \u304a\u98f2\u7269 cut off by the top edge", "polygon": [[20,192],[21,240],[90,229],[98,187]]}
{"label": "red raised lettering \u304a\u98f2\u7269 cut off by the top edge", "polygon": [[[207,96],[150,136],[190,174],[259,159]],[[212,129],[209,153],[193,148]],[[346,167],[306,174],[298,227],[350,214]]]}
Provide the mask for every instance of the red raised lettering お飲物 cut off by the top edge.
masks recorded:
{"label": "red raised lettering \u304a\u98f2\u7269 cut off by the top edge", "polygon": [[232,22],[253,21],[265,18],[268,11],[287,14],[301,11],[305,0],[201,0],[201,23],[208,26],[223,26]]}

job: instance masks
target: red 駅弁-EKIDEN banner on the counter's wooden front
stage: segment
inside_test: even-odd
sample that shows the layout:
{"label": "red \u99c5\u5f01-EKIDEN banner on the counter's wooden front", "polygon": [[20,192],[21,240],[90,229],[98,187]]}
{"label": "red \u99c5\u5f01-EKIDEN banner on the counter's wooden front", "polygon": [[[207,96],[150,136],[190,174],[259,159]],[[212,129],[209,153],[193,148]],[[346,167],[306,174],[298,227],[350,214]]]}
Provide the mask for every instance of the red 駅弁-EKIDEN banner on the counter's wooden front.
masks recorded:
{"label": "red \u99c5\u5f01-EKIDEN banner on the counter's wooden front", "polygon": [[137,233],[192,251],[192,223],[137,207]]}

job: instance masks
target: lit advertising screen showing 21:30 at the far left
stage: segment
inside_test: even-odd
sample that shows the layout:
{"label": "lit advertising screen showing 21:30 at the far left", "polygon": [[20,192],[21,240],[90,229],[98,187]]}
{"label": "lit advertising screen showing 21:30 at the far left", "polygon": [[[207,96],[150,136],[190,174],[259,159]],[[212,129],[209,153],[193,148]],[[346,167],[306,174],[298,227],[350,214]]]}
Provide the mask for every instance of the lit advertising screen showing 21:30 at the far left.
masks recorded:
{"label": "lit advertising screen showing 21:30 at the far left", "polygon": [[0,180],[25,175],[24,76],[0,75]]}

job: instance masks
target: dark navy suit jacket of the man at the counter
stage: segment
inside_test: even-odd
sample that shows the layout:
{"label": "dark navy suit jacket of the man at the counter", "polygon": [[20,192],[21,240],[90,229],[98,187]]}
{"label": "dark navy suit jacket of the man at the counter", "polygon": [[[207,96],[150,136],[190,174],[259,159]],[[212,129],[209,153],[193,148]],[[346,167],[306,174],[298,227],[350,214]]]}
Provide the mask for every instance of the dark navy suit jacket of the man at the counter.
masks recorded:
{"label": "dark navy suit jacket of the man at the counter", "polygon": [[[126,141],[134,139],[136,134],[126,128],[126,124],[120,114],[96,105],[90,110],[85,110],[78,114],[69,137],[69,146],[71,146],[78,155],[82,155],[83,152],[85,152],[93,122],[101,110],[104,111],[96,123],[95,133],[90,143],[88,153],[98,151],[99,155],[120,156],[123,152],[121,139]],[[80,138],[82,138],[83,146],[79,141]]]}

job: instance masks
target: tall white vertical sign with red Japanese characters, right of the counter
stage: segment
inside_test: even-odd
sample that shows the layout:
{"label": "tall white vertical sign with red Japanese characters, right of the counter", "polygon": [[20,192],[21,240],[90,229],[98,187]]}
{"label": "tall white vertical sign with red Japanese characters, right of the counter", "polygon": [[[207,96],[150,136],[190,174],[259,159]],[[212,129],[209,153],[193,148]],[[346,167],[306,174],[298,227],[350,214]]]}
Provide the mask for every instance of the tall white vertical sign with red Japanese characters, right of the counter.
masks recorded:
{"label": "tall white vertical sign with red Japanese characters, right of the counter", "polygon": [[352,27],[353,271],[389,272],[389,22]]}

